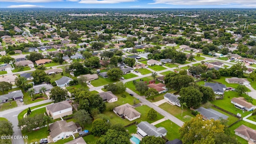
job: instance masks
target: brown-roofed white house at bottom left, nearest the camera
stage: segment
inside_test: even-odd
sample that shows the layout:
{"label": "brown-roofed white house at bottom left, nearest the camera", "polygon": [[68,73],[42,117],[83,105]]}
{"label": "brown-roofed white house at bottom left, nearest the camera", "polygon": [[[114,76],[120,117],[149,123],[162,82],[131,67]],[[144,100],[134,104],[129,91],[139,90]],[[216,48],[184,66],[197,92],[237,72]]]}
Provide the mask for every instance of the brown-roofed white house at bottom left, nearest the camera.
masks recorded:
{"label": "brown-roofed white house at bottom left, nearest the camera", "polygon": [[58,140],[68,138],[72,136],[74,139],[74,134],[78,133],[78,128],[74,122],[66,122],[66,120],[58,120],[49,126],[50,136],[53,142]]}

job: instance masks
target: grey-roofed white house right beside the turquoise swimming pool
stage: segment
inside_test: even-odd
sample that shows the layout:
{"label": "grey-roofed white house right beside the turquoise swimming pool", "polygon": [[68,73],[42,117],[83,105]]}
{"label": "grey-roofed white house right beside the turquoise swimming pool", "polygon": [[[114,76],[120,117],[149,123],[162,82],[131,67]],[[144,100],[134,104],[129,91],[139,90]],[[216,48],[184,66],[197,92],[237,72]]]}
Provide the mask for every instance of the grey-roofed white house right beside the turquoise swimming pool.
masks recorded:
{"label": "grey-roofed white house right beside the turquoise swimming pool", "polygon": [[137,125],[137,134],[142,136],[155,136],[162,137],[166,136],[167,130],[163,127],[156,128],[156,126],[144,121]]}

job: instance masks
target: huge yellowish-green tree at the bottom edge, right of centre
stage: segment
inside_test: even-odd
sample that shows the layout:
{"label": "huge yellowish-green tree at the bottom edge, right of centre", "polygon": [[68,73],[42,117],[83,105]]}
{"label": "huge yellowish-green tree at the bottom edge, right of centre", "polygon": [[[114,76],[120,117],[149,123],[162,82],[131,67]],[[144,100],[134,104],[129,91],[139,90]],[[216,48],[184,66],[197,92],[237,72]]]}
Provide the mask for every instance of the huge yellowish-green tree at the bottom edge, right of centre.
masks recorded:
{"label": "huge yellowish-green tree at the bottom edge, right of centre", "polygon": [[191,144],[201,142],[208,138],[213,138],[214,134],[222,134],[224,132],[224,125],[219,120],[203,120],[199,114],[187,121],[179,128],[180,138],[182,143]]}

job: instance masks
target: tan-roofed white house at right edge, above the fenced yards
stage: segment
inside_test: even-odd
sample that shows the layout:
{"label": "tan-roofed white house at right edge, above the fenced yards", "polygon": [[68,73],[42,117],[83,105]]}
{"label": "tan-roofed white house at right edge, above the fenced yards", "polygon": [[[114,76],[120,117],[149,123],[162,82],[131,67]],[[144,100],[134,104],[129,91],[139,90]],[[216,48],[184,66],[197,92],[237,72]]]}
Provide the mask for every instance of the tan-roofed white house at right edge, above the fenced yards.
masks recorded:
{"label": "tan-roofed white house at right edge, above the fenced yards", "polygon": [[235,105],[236,108],[240,110],[252,111],[256,108],[256,106],[252,105],[250,102],[244,100],[243,97],[232,98],[231,103]]}

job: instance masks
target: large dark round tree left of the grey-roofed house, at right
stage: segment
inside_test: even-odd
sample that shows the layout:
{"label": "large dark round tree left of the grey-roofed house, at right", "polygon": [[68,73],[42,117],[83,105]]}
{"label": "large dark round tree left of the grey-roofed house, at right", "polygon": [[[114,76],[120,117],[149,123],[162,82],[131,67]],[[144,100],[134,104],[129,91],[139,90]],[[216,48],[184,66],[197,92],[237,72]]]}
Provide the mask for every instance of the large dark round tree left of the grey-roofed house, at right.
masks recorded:
{"label": "large dark round tree left of the grey-roofed house, at right", "polygon": [[198,89],[189,86],[180,89],[180,96],[178,99],[180,100],[181,104],[186,102],[189,108],[197,107],[200,106],[202,102],[202,93]]}

